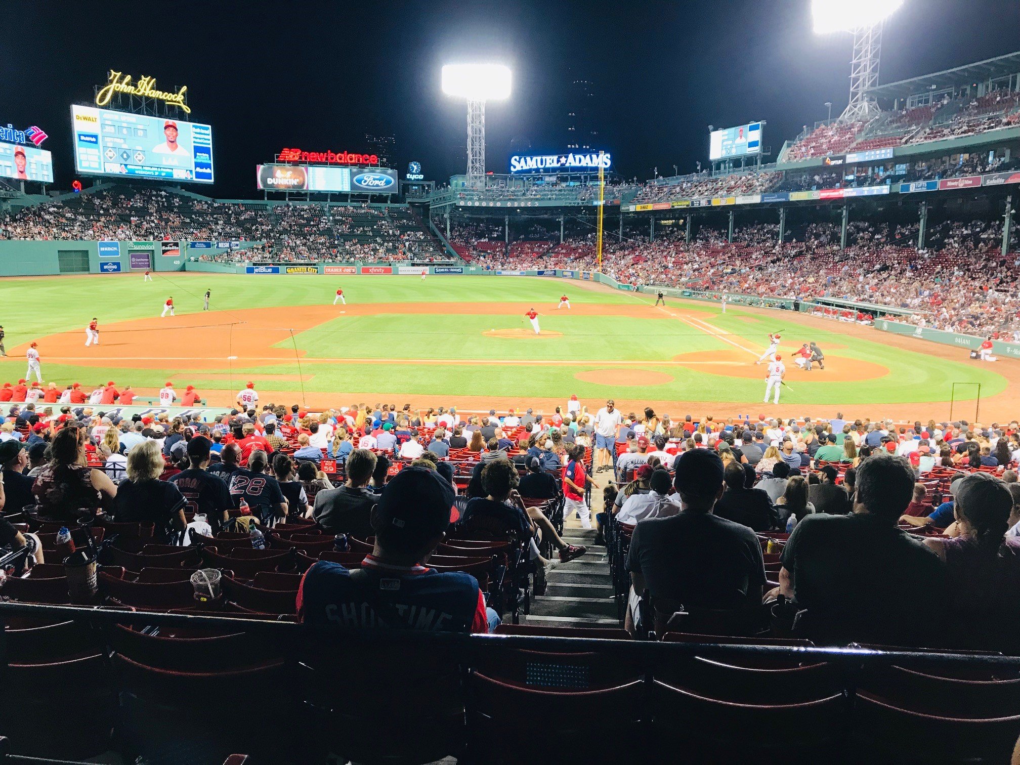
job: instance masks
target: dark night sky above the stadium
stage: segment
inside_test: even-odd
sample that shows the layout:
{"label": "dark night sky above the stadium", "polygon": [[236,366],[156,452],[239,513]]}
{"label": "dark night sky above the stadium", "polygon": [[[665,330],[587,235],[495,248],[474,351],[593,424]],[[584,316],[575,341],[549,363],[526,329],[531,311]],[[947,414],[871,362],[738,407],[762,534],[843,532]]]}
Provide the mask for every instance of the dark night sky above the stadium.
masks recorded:
{"label": "dark night sky above the stadium", "polygon": [[[396,167],[463,172],[465,106],[444,63],[497,61],[509,101],[487,108],[488,168],[511,140],[566,143],[567,83],[596,86],[596,126],[616,169],[644,180],[707,162],[707,126],[767,121],[772,159],[806,123],[847,103],[851,36],[811,32],[808,0],[700,2],[4,3],[0,123],[40,125],[57,186],[73,178],[71,103],[108,69],[187,85],[191,119],[213,128],[216,197],[255,197],[254,166],[285,146],[364,151],[396,138]],[[15,11],[11,14],[12,11]],[[13,31],[18,34],[11,34]],[[907,0],[886,23],[880,82],[1020,49],[1017,0]],[[88,180],[85,181],[88,184]]]}

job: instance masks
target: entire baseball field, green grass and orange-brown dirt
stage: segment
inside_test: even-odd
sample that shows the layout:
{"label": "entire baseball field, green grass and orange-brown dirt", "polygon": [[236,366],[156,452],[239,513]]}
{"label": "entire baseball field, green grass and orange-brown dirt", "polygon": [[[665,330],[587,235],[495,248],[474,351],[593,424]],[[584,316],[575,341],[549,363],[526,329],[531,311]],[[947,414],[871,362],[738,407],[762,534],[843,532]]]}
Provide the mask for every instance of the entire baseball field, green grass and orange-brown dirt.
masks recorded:
{"label": "entire baseball field, green grass and orange-brown dirt", "polygon": [[[167,380],[214,405],[247,381],[263,402],[309,407],[393,401],[462,409],[550,410],[571,394],[624,411],[678,414],[954,416],[1008,420],[1020,410],[1020,362],[981,363],[962,349],[786,311],[654,298],[526,276],[140,274],[4,279],[0,381],[24,376],[39,344],[44,379],[91,391],[115,380],[154,395]],[[338,287],[347,304],[333,305]],[[202,295],[212,293],[210,310]],[[566,294],[571,308],[558,309]],[[160,317],[172,297],[175,315]],[[536,335],[524,313],[539,313]],[[100,344],[86,347],[98,318]],[[780,403],[765,405],[755,360],[779,332]],[[804,342],[825,368],[804,371]]]}

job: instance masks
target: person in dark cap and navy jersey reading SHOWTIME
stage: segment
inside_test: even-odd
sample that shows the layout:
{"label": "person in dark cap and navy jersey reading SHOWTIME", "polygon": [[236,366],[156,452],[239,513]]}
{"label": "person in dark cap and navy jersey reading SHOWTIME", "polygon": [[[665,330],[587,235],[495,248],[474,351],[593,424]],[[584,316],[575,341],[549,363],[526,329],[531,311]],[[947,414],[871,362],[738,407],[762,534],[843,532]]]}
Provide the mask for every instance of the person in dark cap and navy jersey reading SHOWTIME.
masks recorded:
{"label": "person in dark cap and navy jersey reading SHOWTIME", "polygon": [[426,562],[459,517],[450,482],[435,470],[405,467],[371,513],[375,546],[360,569],[319,561],[298,591],[298,618],[313,624],[488,632],[499,623],[469,574],[440,573]]}

